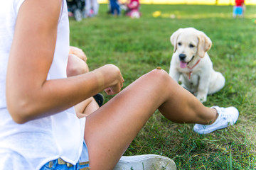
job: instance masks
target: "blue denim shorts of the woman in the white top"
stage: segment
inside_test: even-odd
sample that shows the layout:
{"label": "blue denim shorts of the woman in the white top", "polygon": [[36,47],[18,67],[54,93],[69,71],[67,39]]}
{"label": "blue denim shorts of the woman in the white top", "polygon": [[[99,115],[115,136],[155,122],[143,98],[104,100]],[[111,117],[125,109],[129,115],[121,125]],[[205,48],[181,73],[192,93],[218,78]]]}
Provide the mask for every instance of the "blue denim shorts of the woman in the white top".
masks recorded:
{"label": "blue denim shorts of the woman in the white top", "polygon": [[88,170],[90,169],[88,160],[88,150],[84,141],[82,146],[82,153],[77,164],[72,165],[68,162],[64,162],[63,159],[59,158],[47,162],[44,166],[42,166],[40,170]]}

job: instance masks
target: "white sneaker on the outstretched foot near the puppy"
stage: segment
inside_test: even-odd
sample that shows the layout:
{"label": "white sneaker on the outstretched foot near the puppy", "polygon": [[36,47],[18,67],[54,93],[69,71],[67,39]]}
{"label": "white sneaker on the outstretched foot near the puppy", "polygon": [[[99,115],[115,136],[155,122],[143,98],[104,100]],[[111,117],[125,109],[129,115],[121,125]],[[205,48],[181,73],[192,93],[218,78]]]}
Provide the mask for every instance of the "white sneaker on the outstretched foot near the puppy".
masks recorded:
{"label": "white sneaker on the outstretched foot near the puppy", "polygon": [[201,125],[196,124],[193,130],[199,134],[207,134],[213,132],[214,130],[219,130],[223,128],[227,128],[229,125],[234,125],[238,120],[239,111],[235,107],[229,108],[220,108],[218,106],[213,106],[211,108],[215,108],[218,115],[218,118],[212,125]]}

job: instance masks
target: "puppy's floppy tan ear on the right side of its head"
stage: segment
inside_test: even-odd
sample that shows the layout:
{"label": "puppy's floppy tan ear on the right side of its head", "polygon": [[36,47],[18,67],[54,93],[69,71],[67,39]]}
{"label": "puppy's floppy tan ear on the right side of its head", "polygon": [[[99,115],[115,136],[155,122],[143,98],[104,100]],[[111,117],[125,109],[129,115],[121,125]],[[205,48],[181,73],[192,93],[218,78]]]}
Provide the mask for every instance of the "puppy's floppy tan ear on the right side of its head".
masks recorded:
{"label": "puppy's floppy tan ear on the right side of its head", "polygon": [[210,50],[212,42],[203,32],[198,33],[198,40],[198,56],[203,58],[206,52]]}

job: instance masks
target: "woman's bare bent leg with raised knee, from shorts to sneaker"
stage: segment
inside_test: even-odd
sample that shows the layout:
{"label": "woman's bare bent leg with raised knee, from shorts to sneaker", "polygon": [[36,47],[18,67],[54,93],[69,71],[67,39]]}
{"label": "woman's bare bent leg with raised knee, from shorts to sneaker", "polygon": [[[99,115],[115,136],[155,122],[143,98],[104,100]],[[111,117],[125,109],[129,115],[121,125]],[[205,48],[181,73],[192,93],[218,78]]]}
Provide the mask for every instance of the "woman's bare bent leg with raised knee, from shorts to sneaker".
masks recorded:
{"label": "woman's bare bent leg with raised knee, from shorts to sneaker", "polygon": [[157,108],[176,123],[208,124],[217,117],[164,70],[153,70],[87,116],[85,142],[92,170],[113,169]]}

